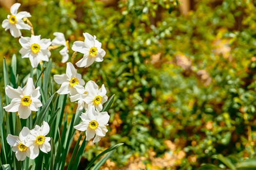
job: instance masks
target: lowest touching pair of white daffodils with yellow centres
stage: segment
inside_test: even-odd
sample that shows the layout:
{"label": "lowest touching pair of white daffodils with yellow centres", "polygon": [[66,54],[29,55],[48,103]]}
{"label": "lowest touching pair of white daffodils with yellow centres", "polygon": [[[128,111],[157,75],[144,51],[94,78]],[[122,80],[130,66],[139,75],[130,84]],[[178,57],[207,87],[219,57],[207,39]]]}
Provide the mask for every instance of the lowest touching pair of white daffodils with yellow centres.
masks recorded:
{"label": "lowest touching pair of white daffodils with yellow centres", "polygon": [[39,150],[48,153],[51,151],[49,143],[50,137],[46,137],[49,133],[49,124],[43,121],[42,126],[36,125],[34,129],[29,130],[23,127],[19,136],[8,135],[7,142],[15,152],[16,158],[23,161],[26,157],[35,159],[39,155]]}

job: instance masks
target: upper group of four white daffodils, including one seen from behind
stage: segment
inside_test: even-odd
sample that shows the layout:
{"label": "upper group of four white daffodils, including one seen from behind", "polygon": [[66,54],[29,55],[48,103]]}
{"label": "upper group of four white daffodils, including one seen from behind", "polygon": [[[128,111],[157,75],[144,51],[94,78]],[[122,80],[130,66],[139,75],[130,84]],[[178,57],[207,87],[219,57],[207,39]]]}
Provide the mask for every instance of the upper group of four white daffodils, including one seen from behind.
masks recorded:
{"label": "upper group of four white daffodils, including one seen from behind", "polygon": [[[2,27],[6,30],[10,30],[10,33],[14,37],[20,37],[19,42],[21,45],[20,54],[21,58],[29,58],[31,66],[36,68],[40,61],[49,61],[51,52],[49,49],[53,47],[63,46],[63,49],[59,51],[62,55],[62,63],[68,61],[69,44],[66,41],[63,33],[55,32],[55,38],[50,39],[42,38],[40,35],[34,35],[34,30],[27,23],[30,23],[27,17],[31,17],[30,13],[22,11],[18,13],[20,3],[15,3],[11,7],[11,15],[7,16],[2,22]],[[21,36],[20,30],[31,30],[31,37]],[[83,57],[76,63],[78,67],[89,67],[95,61],[102,62],[106,52],[101,49],[101,43],[96,39],[96,36],[84,33],[84,42],[75,41],[72,46],[73,51],[83,53]],[[51,46],[52,45],[52,46]],[[51,47],[50,47],[51,46]]]}

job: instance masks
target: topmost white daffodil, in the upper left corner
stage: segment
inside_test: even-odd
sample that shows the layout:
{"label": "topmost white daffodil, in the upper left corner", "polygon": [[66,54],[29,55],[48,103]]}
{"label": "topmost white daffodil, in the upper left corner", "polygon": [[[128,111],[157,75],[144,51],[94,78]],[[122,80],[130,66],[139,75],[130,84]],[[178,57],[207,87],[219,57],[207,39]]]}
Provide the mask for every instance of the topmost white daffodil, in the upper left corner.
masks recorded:
{"label": "topmost white daffodil, in the upper left corner", "polygon": [[6,30],[10,29],[10,33],[14,37],[20,37],[20,30],[30,30],[30,26],[25,24],[22,18],[31,17],[30,13],[26,11],[18,12],[20,3],[15,3],[11,6],[11,15],[2,21],[2,27]]}

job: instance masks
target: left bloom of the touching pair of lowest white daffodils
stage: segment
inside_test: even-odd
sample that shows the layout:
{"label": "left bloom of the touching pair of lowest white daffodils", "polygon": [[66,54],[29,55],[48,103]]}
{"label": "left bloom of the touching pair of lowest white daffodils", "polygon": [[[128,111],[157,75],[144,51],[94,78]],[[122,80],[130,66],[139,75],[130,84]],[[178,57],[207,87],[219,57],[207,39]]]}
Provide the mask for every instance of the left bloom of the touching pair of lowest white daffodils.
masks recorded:
{"label": "left bloom of the touching pair of lowest white daffodils", "polygon": [[12,151],[15,152],[18,161],[25,160],[26,156],[33,157],[34,153],[30,151],[29,145],[27,144],[29,134],[30,130],[27,127],[23,127],[19,136],[8,134],[6,137],[7,143],[12,147]]}

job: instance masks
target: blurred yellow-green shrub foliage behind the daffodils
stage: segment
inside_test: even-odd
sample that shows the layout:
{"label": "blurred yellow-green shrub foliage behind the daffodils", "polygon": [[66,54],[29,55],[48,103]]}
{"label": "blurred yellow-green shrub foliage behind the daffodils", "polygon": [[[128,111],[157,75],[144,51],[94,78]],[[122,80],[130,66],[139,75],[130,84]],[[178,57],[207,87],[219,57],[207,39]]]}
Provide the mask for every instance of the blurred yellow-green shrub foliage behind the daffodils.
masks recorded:
{"label": "blurred yellow-green shrub foliage behind the daffodils", "polygon": [[[237,160],[255,156],[256,0],[217,5],[202,0],[185,16],[178,11],[178,0],[120,0],[110,7],[94,0],[21,3],[41,38],[62,32],[72,45],[88,32],[106,50],[104,62],[79,70],[84,80],[93,78],[105,84],[109,96],[116,95],[108,137],[86,152],[87,159],[108,143],[124,143],[111,157],[121,167],[130,156],[148,158],[149,150],[159,157],[170,152],[166,140],[186,154],[178,169],[220,165],[211,157],[217,153]],[[8,14],[0,8],[1,20]],[[7,61],[17,55],[22,80],[30,63],[20,58],[18,38],[2,29],[0,44],[0,56]],[[178,64],[178,56],[188,68]],[[63,72],[58,51],[51,58],[52,73]],[[0,84],[3,93],[2,80]]]}

